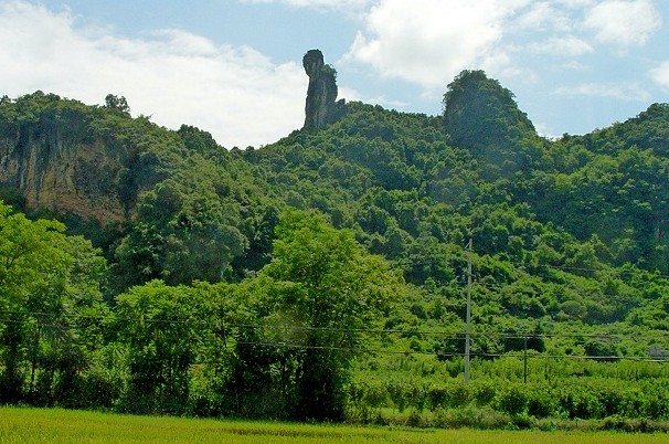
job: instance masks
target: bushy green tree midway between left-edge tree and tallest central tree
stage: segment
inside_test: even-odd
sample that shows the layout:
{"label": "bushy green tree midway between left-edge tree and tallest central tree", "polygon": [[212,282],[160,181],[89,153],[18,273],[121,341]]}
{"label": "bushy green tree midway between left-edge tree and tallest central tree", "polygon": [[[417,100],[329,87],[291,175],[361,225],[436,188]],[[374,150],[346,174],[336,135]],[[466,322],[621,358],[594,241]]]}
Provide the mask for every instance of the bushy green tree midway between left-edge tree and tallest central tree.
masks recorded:
{"label": "bushy green tree midway between left-edge tree and tallest central tree", "polygon": [[182,412],[202,326],[192,292],[152,281],[119,295],[115,317],[116,342],[125,347],[128,369],[125,409]]}

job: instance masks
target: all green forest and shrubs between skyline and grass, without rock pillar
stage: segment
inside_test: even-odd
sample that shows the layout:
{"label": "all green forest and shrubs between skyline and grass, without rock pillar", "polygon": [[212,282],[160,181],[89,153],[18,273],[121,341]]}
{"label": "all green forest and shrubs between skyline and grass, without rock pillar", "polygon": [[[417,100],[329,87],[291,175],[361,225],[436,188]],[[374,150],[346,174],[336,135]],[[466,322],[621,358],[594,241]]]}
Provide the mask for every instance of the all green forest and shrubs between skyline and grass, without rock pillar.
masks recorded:
{"label": "all green forest and shrubs between skyline and grass, without rock pillar", "polygon": [[482,71],[440,116],[341,106],[226,149],[3,97],[0,402],[669,420],[669,105],[554,140]]}

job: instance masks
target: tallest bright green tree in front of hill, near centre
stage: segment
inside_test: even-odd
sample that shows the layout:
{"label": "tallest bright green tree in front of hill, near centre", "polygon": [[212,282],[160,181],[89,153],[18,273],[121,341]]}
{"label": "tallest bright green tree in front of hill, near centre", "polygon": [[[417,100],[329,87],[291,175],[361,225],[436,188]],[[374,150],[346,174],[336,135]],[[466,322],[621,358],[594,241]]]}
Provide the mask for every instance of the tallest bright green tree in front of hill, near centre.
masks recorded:
{"label": "tallest bright green tree in front of hill, near centre", "polygon": [[258,321],[290,334],[288,409],[295,419],[341,419],[360,329],[399,299],[403,278],[320,216],[287,212],[275,232],[273,260],[251,284],[262,295]]}

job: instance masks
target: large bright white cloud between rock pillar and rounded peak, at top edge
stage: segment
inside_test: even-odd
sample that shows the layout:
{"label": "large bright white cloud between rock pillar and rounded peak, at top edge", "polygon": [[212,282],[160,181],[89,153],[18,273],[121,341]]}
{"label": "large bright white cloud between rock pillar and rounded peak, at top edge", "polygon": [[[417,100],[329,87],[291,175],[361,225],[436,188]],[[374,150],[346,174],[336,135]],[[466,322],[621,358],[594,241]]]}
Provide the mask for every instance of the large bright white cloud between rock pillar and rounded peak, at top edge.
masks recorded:
{"label": "large bright white cloud between rock pillar and rounded peak, at top edge", "polygon": [[529,0],[381,0],[363,18],[344,61],[381,75],[443,87],[464,68],[507,63],[503,21]]}

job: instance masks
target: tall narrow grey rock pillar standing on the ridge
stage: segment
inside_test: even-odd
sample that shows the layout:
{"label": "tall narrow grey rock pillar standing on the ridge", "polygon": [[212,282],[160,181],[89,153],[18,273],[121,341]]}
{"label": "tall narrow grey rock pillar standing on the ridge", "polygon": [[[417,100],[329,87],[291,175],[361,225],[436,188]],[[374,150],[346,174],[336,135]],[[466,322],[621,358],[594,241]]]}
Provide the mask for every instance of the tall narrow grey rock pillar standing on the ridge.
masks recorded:
{"label": "tall narrow grey rock pillar standing on the ridge", "polygon": [[319,50],[309,50],[302,59],[302,66],[309,76],[304,129],[314,131],[341,118],[346,102],[337,101],[337,72],[325,64]]}

